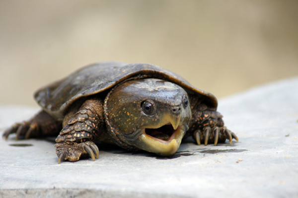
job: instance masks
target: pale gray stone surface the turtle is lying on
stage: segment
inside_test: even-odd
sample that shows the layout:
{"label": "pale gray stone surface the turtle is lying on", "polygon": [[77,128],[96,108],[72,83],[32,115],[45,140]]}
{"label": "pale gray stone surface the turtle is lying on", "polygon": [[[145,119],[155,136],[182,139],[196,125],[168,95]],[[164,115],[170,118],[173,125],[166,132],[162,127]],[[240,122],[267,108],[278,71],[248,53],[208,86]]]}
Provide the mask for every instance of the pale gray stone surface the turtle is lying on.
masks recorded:
{"label": "pale gray stone surface the turtle is lying on", "polygon": [[[219,101],[239,142],[181,144],[172,158],[100,144],[58,164],[53,139],[0,139],[0,197],[298,197],[298,78]],[[0,106],[0,128],[36,109]],[[32,144],[32,146],[11,146]]]}

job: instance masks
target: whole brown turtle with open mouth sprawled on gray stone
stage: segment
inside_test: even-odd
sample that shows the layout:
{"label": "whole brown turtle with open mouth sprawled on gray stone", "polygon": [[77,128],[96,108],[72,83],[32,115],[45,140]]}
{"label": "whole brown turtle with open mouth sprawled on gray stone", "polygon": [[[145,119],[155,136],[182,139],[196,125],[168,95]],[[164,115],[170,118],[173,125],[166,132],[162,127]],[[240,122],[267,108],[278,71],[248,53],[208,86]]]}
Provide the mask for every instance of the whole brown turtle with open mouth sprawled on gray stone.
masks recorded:
{"label": "whole brown turtle with open mouth sprawled on gray stone", "polygon": [[224,126],[213,94],[151,64],[84,66],[37,90],[34,98],[41,111],[4,131],[3,138],[12,133],[16,140],[58,135],[58,163],[97,159],[96,142],[167,157],[188,136],[198,145],[238,141]]}

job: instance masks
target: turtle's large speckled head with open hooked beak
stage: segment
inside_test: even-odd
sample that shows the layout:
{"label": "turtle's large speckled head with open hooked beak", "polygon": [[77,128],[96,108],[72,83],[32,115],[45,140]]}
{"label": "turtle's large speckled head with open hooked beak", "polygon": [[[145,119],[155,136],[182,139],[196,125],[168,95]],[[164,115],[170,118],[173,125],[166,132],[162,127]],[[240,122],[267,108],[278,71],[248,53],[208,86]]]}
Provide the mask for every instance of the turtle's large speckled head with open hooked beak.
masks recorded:
{"label": "turtle's large speckled head with open hooked beak", "polygon": [[192,119],[187,92],[160,79],[126,81],[109,94],[105,103],[107,119],[117,138],[162,156],[178,150]]}

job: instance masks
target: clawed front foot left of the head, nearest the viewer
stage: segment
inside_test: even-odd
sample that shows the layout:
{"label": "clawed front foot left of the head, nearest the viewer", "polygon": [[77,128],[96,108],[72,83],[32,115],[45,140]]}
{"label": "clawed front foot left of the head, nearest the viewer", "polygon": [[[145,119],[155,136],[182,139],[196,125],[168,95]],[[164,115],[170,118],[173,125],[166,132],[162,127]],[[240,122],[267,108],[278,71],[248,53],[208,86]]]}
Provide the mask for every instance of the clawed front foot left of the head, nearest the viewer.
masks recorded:
{"label": "clawed front foot left of the head, nearest the viewer", "polygon": [[98,159],[99,155],[99,149],[92,141],[86,141],[82,143],[61,142],[56,143],[55,147],[56,154],[59,157],[59,164],[62,159],[75,162],[79,160],[81,156],[86,157],[87,155],[90,155],[90,157],[95,160],[95,158]]}

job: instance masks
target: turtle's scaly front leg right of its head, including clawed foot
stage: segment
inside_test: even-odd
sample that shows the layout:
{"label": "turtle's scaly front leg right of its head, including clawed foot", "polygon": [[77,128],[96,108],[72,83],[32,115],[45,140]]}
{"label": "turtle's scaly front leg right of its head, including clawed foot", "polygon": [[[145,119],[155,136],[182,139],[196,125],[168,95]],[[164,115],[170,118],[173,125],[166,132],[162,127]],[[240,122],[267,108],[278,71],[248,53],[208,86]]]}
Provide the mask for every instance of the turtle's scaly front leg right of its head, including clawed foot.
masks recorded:
{"label": "turtle's scaly front leg right of its head, including clawed foot", "polygon": [[[193,100],[196,102],[196,100]],[[198,145],[204,143],[224,142],[226,139],[229,143],[232,143],[232,139],[238,141],[238,137],[235,133],[229,131],[224,127],[223,116],[214,109],[210,109],[204,103],[192,104],[192,124],[190,127],[190,133],[196,140]]]}

